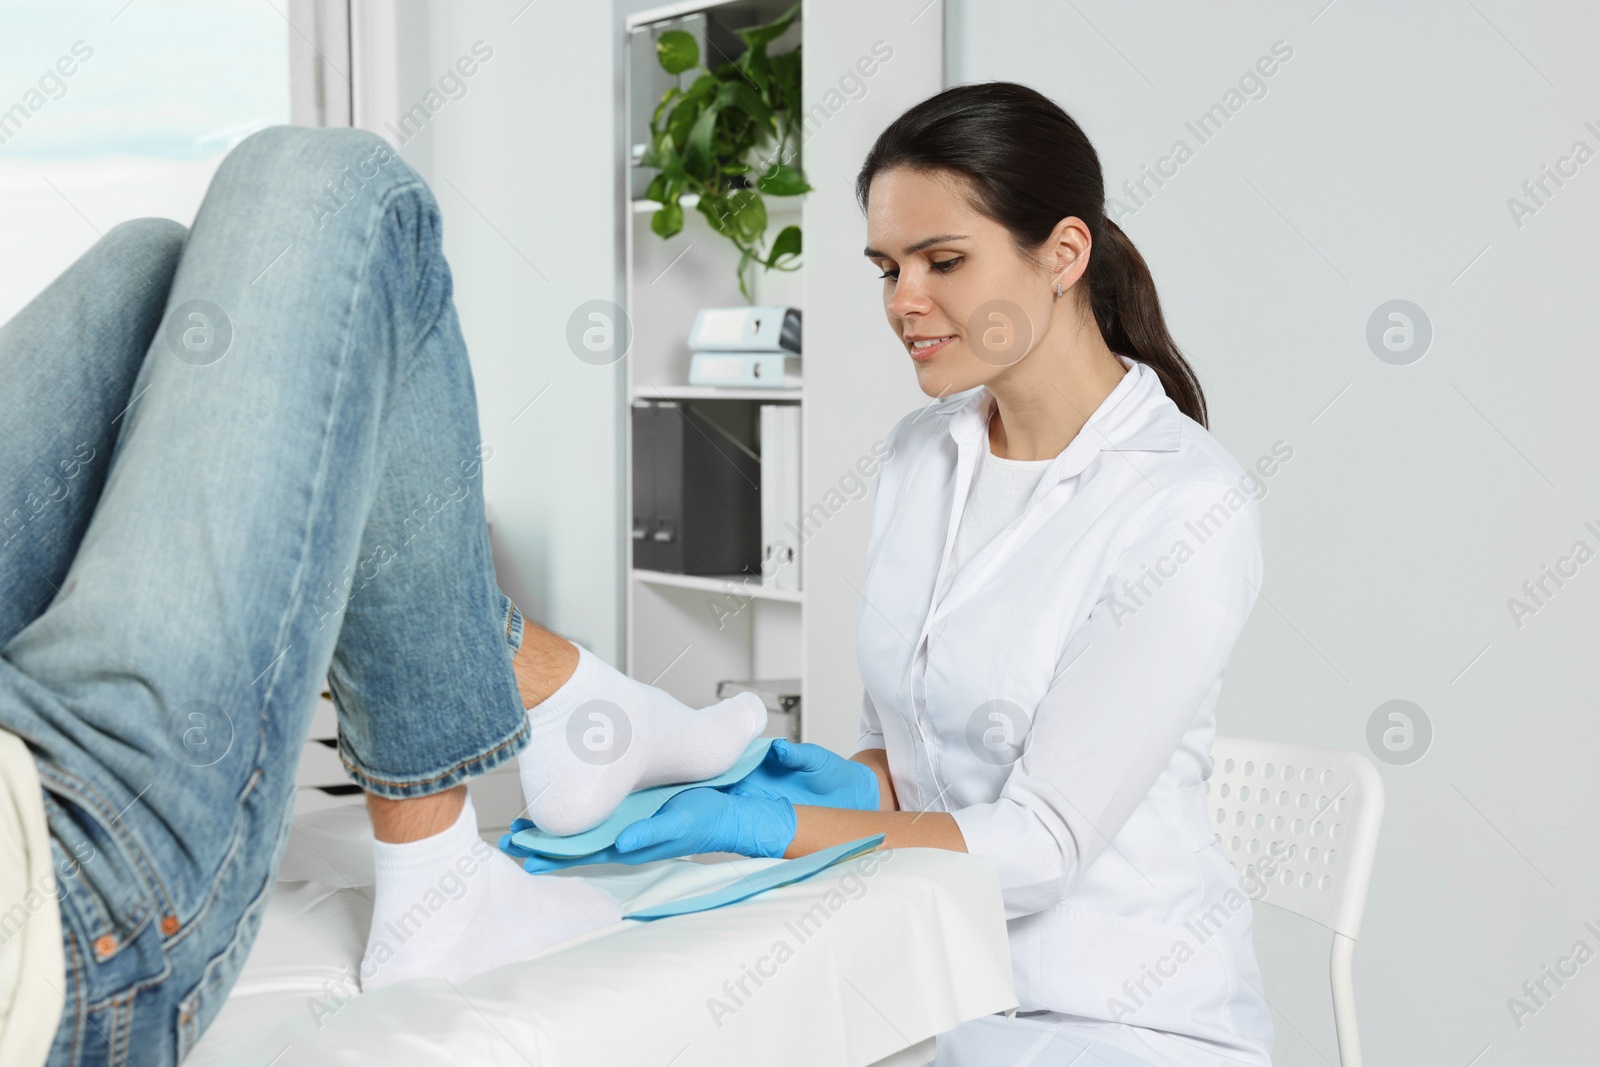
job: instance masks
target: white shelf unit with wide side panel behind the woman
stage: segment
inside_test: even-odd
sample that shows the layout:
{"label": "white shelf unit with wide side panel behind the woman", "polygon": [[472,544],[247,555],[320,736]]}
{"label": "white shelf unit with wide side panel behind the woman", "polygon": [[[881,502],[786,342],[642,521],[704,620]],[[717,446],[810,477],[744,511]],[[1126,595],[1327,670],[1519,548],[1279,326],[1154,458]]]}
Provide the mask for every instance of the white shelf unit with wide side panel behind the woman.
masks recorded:
{"label": "white shelf unit with wide side panel behind the woman", "polygon": [[[632,323],[626,358],[624,598],[626,670],[675,697],[704,705],[717,683],[733,678],[800,678],[802,739],[850,753],[858,731],[861,681],[854,627],[864,571],[870,502],[853,501],[826,517],[800,545],[800,592],[763,589],[744,576],[685,576],[632,566],[632,419],[635,400],[715,400],[795,403],[802,410],[802,517],[824,499],[872,443],[925,400],[883,322],[878,283],[861,258],[866,226],[854,205],[854,173],[872,138],[901,110],[942,88],[942,5],[926,0],[805,0],[802,18],[773,42],[771,53],[803,46],[803,109],[808,115],[802,165],[813,192],[766,197],[768,240],[800,224],[800,270],[754,275],[755,304],[798,307],[805,314],[802,389],[706,389],[688,386],[688,333],[701,307],[746,304],[734,278],[738,253],[712,232],[693,202],[683,200],[683,230],[661,240],[650,229],[656,205],[638,200],[642,184],[629,166],[629,115],[635,82],[653,77],[653,37],[659,24],[717,11],[728,24],[776,18],[787,0],[714,0],[672,5],[624,21],[622,134],[618,221],[619,274]],[[635,54],[635,34],[651,54]],[[842,106],[840,77],[862,58],[893,45],[870,91]],[[648,62],[646,62],[648,61]],[[654,101],[651,101],[653,107]],[[821,109],[821,110],[816,110]],[[634,110],[634,115],[638,112]],[[637,122],[637,118],[635,118]],[[826,125],[821,125],[824,123]],[[814,136],[813,136],[814,134]],[[826,136],[822,136],[826,134]],[[758,419],[755,421],[758,424]],[[814,565],[822,560],[822,565]]]}

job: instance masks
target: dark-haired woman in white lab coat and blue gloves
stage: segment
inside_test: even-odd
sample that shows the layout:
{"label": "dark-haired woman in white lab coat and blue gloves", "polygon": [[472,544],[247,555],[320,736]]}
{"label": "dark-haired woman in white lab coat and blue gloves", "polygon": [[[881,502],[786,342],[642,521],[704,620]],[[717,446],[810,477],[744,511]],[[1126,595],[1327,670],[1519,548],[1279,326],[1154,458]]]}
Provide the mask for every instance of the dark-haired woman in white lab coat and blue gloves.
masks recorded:
{"label": "dark-haired woman in white lab coat and blue gloves", "polygon": [[1056,104],[939,93],[877,139],[858,197],[890,330],[934,398],[888,437],[858,752],[776,742],[611,859],[878,832],[974,853],[1000,877],[1021,1011],[941,1035],[936,1062],[1266,1065],[1250,899],[1203,785],[1261,584],[1259,483],[1206,432]]}

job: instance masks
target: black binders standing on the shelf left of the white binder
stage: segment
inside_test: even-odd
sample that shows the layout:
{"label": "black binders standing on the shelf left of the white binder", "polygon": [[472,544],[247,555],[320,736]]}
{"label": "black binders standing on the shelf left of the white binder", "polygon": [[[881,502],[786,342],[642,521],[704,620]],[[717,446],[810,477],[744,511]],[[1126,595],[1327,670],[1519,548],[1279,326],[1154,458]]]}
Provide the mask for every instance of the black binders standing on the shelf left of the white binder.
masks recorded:
{"label": "black binders standing on the shelf left of the white binder", "polygon": [[675,400],[635,402],[632,418],[634,566],[760,574],[762,464],[746,443],[752,427],[726,429]]}

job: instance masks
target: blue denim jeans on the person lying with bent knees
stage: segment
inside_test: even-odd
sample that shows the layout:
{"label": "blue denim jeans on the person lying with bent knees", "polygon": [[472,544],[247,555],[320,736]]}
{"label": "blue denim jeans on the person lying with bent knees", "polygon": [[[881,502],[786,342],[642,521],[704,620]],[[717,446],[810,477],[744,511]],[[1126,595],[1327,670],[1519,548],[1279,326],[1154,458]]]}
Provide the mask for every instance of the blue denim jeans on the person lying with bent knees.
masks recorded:
{"label": "blue denim jeans on the person lying with bent knees", "polygon": [[266,130],[192,230],[118,226],[0,328],[0,726],[45,790],[66,942],[50,1062],[174,1064],[288,840],[326,677],[381,797],[526,744],[427,186]]}

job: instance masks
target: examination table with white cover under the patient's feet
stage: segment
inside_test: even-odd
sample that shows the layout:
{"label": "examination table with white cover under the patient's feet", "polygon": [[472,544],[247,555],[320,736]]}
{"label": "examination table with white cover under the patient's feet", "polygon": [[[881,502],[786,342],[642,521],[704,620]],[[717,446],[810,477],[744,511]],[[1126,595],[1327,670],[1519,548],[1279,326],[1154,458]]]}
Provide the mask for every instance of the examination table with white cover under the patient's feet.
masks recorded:
{"label": "examination table with white cover under the patient's feet", "polygon": [[[629,912],[776,862],[582,870]],[[354,993],[371,881],[360,801],[298,816],[250,961],[186,1067],[909,1067],[933,1035],[1016,1006],[998,883],[963,853],[878,851],[466,982]]]}

